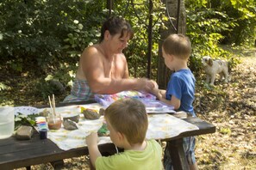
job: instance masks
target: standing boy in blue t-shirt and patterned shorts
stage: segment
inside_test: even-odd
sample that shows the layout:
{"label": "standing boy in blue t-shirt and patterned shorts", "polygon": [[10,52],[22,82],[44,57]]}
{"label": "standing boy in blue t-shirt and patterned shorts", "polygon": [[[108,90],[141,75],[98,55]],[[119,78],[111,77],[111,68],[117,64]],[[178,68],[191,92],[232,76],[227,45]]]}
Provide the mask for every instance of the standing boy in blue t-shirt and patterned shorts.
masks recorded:
{"label": "standing boy in blue t-shirt and patterned shorts", "polygon": [[[184,111],[196,116],[192,106],[195,96],[196,79],[187,66],[190,58],[191,44],[183,34],[171,34],[162,45],[165,65],[174,73],[168,82],[166,90],[154,89],[159,100],[174,106],[176,111]],[[184,151],[190,169],[198,169],[195,159],[195,137],[184,137]],[[170,153],[165,149],[165,170],[172,169]]]}

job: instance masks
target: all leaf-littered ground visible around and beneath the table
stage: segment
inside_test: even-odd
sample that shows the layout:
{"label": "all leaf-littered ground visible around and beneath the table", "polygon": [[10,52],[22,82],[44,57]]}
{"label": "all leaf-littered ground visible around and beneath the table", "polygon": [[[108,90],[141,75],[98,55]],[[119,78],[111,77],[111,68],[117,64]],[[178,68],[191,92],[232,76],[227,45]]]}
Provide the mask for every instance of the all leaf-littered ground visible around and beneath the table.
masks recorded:
{"label": "all leaf-littered ground visible around and beneath the table", "polygon": [[[197,137],[197,164],[200,169],[256,169],[256,53],[255,49],[236,49],[241,63],[232,72],[232,81],[215,87],[197,78],[195,108],[197,116],[215,124],[214,134]],[[203,78],[203,80],[201,80]],[[47,104],[40,94],[34,94],[34,77],[1,76],[9,86],[1,91],[0,105],[38,106]],[[57,102],[66,94],[56,97]],[[25,169],[25,168],[20,168]],[[50,164],[32,169],[53,169]],[[62,169],[89,169],[88,157],[65,160]]]}

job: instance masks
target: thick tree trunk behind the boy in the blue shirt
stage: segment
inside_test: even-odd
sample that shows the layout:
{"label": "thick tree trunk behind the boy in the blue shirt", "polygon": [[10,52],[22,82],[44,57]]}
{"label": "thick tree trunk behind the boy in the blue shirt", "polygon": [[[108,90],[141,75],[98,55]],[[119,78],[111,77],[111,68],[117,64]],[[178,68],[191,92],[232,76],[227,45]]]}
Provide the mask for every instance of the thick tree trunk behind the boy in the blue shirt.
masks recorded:
{"label": "thick tree trunk behind the boy in the blue shirt", "polygon": [[160,30],[161,39],[159,41],[159,64],[158,64],[158,84],[159,88],[165,89],[171,75],[171,70],[166,68],[164,58],[162,58],[162,42],[170,33],[183,33],[186,31],[186,15],[184,0],[163,0],[166,5],[165,15],[169,18],[166,23],[168,29]]}

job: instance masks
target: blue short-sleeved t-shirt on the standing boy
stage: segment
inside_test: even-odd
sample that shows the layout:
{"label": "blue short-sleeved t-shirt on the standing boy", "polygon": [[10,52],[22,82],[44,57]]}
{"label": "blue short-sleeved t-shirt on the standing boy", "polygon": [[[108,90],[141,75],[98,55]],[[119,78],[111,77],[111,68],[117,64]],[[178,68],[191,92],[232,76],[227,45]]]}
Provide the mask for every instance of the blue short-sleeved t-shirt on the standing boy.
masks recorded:
{"label": "blue short-sleeved t-shirt on the standing boy", "polygon": [[174,95],[180,100],[178,111],[190,112],[196,116],[193,108],[195,99],[196,79],[190,69],[178,70],[171,75],[166,89],[166,100],[171,100]]}

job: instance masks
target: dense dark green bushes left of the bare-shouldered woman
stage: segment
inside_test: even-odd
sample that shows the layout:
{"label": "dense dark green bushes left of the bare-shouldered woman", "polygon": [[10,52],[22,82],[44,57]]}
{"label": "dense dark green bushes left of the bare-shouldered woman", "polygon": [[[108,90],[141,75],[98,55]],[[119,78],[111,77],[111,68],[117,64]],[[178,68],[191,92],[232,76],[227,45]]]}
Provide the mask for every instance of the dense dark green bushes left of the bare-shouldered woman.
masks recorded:
{"label": "dense dark green bushes left of the bare-shouldered woman", "polygon": [[[78,62],[78,53],[90,42],[96,42],[96,27],[105,18],[103,3],[99,2],[0,3],[0,55],[1,63],[6,64],[3,67],[42,76],[58,72],[61,64],[66,65],[66,72],[72,70]],[[99,11],[98,15],[95,11]]]}

